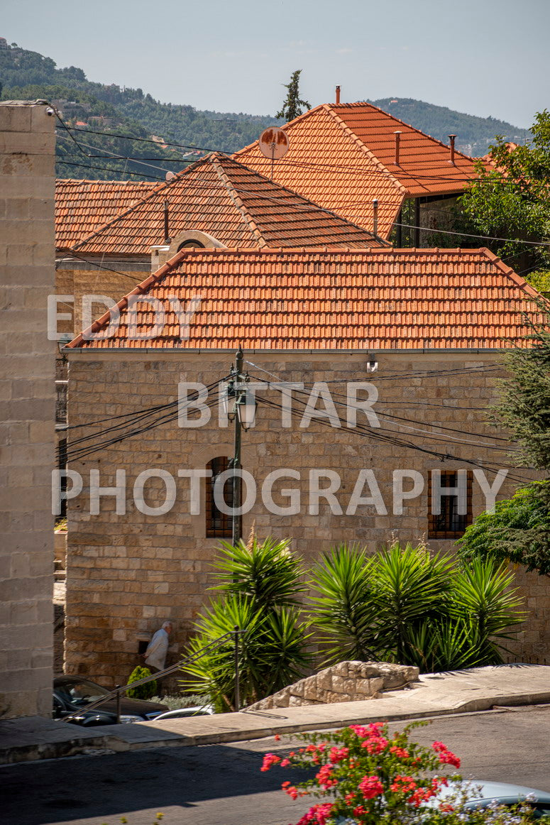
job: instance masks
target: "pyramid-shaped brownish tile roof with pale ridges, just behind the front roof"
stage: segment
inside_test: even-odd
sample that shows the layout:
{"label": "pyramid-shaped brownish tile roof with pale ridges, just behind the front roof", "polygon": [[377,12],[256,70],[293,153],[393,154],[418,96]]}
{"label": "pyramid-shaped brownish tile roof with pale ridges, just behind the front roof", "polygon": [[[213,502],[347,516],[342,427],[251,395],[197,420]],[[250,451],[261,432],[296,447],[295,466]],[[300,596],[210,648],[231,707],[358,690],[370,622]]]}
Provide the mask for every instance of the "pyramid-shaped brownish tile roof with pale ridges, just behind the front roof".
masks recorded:
{"label": "pyramid-shaped brownish tile roof with pale ridges, just behind the front roof", "polygon": [[339,215],[273,183],[227,155],[201,158],[172,181],[155,186],[137,205],[74,244],[80,254],[147,255],[169,232],[214,236],[226,247],[381,247],[383,243]]}

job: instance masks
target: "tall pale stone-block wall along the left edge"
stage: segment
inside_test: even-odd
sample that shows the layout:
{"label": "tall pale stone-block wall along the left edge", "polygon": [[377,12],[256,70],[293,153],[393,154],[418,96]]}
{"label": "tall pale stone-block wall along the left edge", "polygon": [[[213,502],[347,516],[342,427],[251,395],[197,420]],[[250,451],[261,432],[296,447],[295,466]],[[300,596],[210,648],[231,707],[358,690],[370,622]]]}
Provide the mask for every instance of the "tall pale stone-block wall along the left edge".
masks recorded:
{"label": "tall pale stone-block wall along the left edge", "polygon": [[0,103],[0,717],[49,714],[52,680],[54,123]]}

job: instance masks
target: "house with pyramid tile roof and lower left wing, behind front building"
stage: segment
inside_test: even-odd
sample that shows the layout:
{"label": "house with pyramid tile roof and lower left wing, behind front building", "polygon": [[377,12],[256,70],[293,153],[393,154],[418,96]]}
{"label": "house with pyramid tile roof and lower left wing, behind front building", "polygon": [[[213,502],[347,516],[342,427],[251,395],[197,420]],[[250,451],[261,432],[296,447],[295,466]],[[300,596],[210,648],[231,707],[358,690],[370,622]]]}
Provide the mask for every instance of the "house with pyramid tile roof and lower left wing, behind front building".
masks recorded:
{"label": "house with pyramid tile roof and lower left wing, behind front building", "polygon": [[388,244],[221,153],[166,183],[58,181],[58,292],[119,299],[182,247],[350,248]]}

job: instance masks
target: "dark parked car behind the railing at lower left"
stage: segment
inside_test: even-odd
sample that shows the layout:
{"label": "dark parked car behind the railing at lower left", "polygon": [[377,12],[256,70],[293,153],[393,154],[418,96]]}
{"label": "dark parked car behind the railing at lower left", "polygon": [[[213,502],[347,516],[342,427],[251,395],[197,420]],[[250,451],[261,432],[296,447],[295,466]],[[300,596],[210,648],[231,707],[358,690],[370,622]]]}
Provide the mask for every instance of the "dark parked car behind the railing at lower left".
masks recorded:
{"label": "dark parked car behind the railing at lower left", "polygon": [[[92,710],[91,705],[109,691],[101,685],[80,676],[58,676],[54,679],[54,719],[68,719],[73,724],[90,727],[100,724],[116,724],[116,700],[108,699],[103,705]],[[143,722],[155,719],[166,711],[167,705],[160,702],[145,702],[141,699],[120,697],[120,722]]]}

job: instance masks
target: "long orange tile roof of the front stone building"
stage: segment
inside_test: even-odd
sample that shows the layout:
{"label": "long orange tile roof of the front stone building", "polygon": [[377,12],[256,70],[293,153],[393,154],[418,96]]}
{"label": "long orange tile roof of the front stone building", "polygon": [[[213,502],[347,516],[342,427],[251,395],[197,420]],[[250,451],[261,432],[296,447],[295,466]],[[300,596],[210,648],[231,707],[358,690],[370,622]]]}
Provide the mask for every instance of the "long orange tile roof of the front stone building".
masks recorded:
{"label": "long orange tile roof of the front stone building", "polygon": [[[129,295],[164,302],[156,337],[131,340]],[[538,293],[487,249],[327,252],[182,250],[121,299],[109,338],[69,347],[227,349],[500,349],[527,332]],[[181,340],[168,299],[200,299]],[[153,311],[138,304],[138,330]],[[106,329],[109,314],[92,325]]]}

